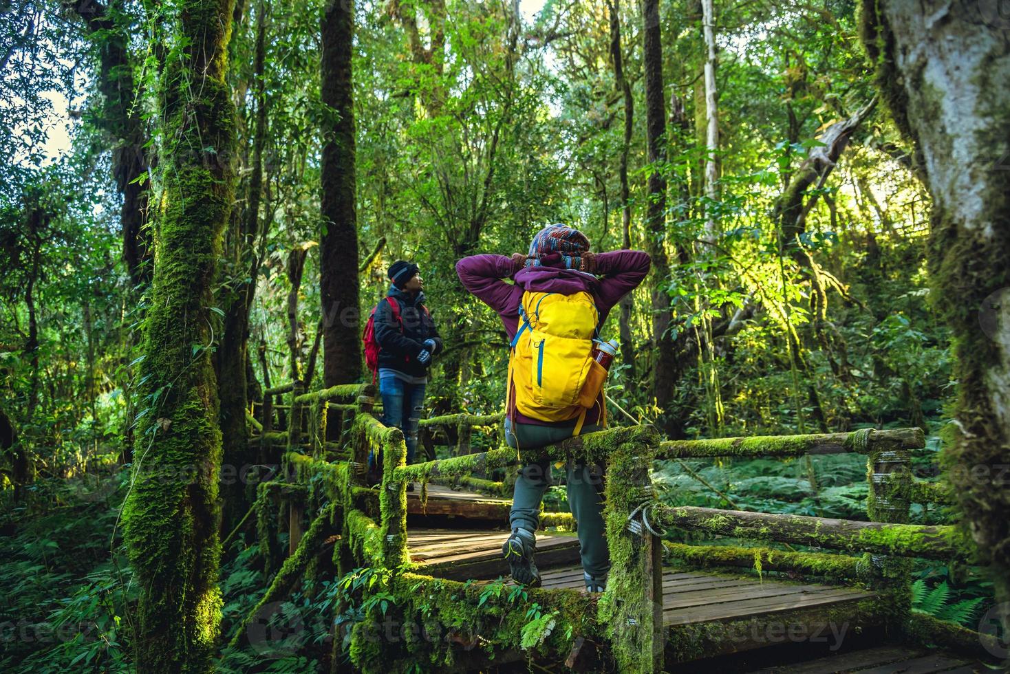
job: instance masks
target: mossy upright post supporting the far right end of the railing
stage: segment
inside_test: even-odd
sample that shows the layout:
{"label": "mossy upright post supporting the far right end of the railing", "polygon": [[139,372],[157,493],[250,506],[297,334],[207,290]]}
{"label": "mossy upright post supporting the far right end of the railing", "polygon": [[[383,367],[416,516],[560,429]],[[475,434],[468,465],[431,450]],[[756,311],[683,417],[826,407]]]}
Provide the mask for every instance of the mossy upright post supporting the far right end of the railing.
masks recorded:
{"label": "mossy upright post supporting the far right end of the railing", "polygon": [[[867,515],[871,522],[908,524],[912,492],[911,452],[900,440],[873,437],[870,434],[867,455]],[[909,574],[911,561],[892,555],[871,555],[874,584],[882,593],[882,605],[888,606],[889,632],[901,631],[911,610]]]}

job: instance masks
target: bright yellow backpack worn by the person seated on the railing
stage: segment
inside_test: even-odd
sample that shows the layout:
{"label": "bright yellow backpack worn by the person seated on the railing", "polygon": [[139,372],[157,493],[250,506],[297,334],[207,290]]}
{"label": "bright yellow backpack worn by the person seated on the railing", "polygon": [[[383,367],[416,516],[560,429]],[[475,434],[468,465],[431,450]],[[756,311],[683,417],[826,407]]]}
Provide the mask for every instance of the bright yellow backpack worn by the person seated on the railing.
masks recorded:
{"label": "bright yellow backpack worn by the person seated on the railing", "polygon": [[[545,422],[578,418],[573,435],[579,435],[607,378],[592,356],[599,318],[586,292],[522,294],[506,397],[511,402],[514,394],[515,410]],[[602,410],[600,419],[604,424]]]}

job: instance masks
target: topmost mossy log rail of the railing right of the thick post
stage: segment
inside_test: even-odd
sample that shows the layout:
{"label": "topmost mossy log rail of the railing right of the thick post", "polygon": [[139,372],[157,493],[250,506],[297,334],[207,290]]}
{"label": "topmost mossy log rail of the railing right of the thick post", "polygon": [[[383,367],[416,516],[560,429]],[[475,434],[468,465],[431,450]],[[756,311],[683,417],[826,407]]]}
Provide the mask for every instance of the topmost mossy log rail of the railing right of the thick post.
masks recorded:
{"label": "topmost mossy log rail of the railing right of the thick post", "polygon": [[904,449],[925,447],[918,428],[887,431],[863,429],[851,433],[712,438],[708,440],[667,440],[660,443],[658,459],[687,459],[718,456],[803,456],[805,454],[867,454],[878,442],[897,442]]}

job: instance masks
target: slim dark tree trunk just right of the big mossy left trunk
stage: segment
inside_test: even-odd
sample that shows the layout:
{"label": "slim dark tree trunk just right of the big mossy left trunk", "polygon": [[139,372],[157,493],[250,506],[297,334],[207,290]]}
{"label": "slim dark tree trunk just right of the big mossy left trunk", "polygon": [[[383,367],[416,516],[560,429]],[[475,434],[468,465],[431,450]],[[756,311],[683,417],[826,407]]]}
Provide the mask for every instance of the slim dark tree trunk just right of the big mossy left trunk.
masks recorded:
{"label": "slim dark tree trunk just right of the big mossy left trunk", "polygon": [[[263,193],[263,149],[267,142],[267,100],[264,94],[264,74],[267,54],[267,1],[259,0],[256,14],[256,46],[252,65],[252,98],[256,101],[256,122],[252,131],[251,173],[245,193],[244,210],[234,219],[230,236],[229,257],[239,280],[225,291],[224,330],[215,356],[217,383],[221,399],[221,439],[223,461],[234,476],[221,484],[221,532],[234,529],[238,518],[252,504],[256,493],[245,488],[242,466],[256,462],[257,450],[249,449],[245,411],[248,408],[249,311],[256,293],[261,253],[257,249],[260,227],[260,201]],[[246,278],[248,280],[246,280]]]}

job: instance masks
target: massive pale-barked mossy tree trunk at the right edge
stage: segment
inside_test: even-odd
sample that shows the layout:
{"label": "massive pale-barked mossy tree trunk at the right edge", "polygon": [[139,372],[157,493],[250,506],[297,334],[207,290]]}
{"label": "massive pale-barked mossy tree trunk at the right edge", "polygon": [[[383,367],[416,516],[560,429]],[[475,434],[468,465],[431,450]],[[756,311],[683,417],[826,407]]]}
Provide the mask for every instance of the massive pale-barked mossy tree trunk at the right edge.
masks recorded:
{"label": "massive pale-barked mossy tree trunk at the right edge", "polygon": [[[929,270],[957,357],[944,449],[1010,634],[1010,21],[998,3],[878,0],[864,43],[933,197]],[[950,48],[948,45],[956,45]]]}

